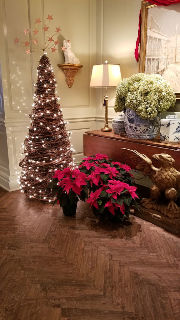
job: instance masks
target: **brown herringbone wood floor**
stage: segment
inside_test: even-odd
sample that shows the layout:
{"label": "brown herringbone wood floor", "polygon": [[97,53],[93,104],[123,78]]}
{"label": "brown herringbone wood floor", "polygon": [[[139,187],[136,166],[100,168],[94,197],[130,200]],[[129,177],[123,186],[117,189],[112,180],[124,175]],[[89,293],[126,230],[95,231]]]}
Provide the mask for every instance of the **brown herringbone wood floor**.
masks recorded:
{"label": "brown herringbone wood floor", "polygon": [[0,189],[0,320],[180,320],[180,238]]}

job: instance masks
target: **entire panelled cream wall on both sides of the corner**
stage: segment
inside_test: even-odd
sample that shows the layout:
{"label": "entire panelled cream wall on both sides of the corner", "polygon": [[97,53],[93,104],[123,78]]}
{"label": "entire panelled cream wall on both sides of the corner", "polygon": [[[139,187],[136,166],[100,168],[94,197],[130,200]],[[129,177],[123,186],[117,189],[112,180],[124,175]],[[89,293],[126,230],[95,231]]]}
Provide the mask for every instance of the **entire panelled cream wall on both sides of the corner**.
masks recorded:
{"label": "entire panelled cream wall on both sides of the corner", "polygon": [[[0,0],[0,59],[2,69],[0,104],[0,186],[7,190],[18,188],[17,177],[21,168],[20,152],[29,125],[33,103],[33,83],[37,82],[36,68],[40,52],[26,55],[24,44],[14,44],[17,36],[26,41],[23,30],[34,30],[35,19],[43,24],[48,14],[53,15],[49,36],[55,27],[62,29],[59,36],[70,39],[72,51],[83,68],[75,75],[72,88],[57,66],[64,62],[63,53],[48,52],[60,97],[64,119],[69,121],[67,130],[73,132],[75,158],[83,156],[83,133],[99,129],[104,124],[102,107],[104,90],[89,88],[92,66],[103,63],[120,64],[122,78],[138,72],[134,57],[141,0]],[[39,32],[39,41],[44,32]],[[27,47],[26,47],[27,48]],[[117,114],[113,105],[115,88],[108,89],[109,119]],[[176,108],[177,109],[177,108]],[[4,113],[5,110],[5,113]],[[148,182],[149,183],[149,182]],[[144,182],[144,184],[148,184]]]}

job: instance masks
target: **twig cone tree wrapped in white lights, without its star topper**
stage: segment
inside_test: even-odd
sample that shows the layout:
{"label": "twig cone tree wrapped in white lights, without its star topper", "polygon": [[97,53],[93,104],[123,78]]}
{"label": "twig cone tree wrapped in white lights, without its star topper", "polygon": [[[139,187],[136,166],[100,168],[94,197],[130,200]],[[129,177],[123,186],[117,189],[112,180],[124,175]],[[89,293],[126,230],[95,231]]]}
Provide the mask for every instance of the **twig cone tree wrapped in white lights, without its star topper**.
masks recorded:
{"label": "twig cone tree wrapped in white lights, without its star topper", "polygon": [[25,157],[20,161],[21,192],[30,198],[51,202],[51,189],[47,189],[53,172],[76,167],[72,158],[70,132],[66,131],[62,109],[57,103],[56,80],[48,57],[44,54],[37,67],[38,80],[34,86],[31,125],[24,141]]}

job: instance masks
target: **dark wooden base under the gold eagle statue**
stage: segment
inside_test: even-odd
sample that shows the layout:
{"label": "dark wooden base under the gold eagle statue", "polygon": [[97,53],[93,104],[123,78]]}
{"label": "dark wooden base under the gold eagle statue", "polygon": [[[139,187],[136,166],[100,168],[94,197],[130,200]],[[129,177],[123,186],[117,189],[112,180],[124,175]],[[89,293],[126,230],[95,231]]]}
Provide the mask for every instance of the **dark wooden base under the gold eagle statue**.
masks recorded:
{"label": "dark wooden base under the gold eagle statue", "polygon": [[139,209],[140,210],[135,209],[133,213],[136,217],[149,221],[172,233],[180,233],[180,219],[170,219],[163,216],[160,212],[145,209],[141,205],[139,206]]}

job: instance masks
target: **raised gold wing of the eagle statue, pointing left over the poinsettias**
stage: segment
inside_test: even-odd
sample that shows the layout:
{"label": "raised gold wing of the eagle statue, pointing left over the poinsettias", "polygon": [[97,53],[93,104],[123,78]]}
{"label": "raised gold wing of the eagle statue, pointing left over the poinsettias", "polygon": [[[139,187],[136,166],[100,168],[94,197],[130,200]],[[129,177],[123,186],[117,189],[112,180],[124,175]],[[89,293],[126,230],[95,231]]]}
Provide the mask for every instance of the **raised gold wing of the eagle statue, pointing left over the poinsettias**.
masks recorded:
{"label": "raised gold wing of the eagle statue, pointing left over the poinsettias", "polygon": [[151,159],[136,150],[122,149],[126,150],[126,156],[130,156],[130,159],[136,163],[136,169],[142,171],[144,176],[148,175],[152,182],[155,182],[155,174],[159,169],[152,165]]}

